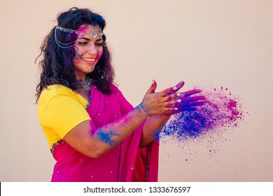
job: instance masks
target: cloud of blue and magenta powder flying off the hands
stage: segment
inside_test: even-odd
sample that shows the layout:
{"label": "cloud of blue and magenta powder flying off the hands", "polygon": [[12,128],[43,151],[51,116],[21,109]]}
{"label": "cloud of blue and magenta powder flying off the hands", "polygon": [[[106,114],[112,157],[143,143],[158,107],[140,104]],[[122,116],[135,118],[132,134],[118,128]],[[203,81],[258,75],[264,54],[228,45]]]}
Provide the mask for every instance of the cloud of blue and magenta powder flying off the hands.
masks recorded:
{"label": "cloud of blue and magenta powder flying off the hands", "polygon": [[203,89],[202,94],[207,97],[207,103],[199,106],[197,111],[174,115],[160,133],[160,139],[171,137],[179,142],[211,139],[237,127],[244,120],[241,99],[232,96],[228,88]]}

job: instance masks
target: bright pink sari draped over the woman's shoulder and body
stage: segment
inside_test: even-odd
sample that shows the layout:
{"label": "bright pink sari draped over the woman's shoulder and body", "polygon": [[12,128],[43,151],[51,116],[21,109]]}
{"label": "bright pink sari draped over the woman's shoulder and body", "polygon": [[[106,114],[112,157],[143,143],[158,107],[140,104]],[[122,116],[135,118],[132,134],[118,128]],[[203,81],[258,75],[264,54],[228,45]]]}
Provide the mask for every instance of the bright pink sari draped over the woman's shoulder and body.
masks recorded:
{"label": "bright pink sari draped over the woman's shoulder and body", "polygon": [[[91,87],[92,101],[87,112],[92,119],[92,130],[118,120],[133,109],[120,90],[112,87],[113,94],[103,94],[94,85]],[[143,125],[100,158],[89,158],[64,140],[57,142],[52,148],[57,162],[51,181],[158,181],[159,143],[153,141],[139,148]]]}

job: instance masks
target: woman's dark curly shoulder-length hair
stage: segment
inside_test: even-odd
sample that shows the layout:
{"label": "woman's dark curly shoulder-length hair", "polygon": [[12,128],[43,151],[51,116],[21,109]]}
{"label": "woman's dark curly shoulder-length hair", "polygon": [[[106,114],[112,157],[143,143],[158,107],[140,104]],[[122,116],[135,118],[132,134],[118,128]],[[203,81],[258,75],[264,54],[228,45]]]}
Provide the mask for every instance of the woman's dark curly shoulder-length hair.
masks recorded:
{"label": "woman's dark curly shoulder-length hair", "polygon": [[[106,21],[101,15],[93,13],[88,8],[71,8],[64,13],[57,16],[57,25],[66,29],[77,30],[80,25],[94,25],[100,27],[102,31],[106,26]],[[75,50],[71,48],[61,48],[55,41],[55,28],[54,27],[48,36],[45,37],[41,45],[41,54],[43,59],[39,62],[41,66],[41,80],[36,87],[36,102],[42,90],[45,87],[53,84],[65,85],[72,90],[78,89],[79,80],[76,80],[75,66],[73,65],[73,58],[75,57]],[[69,41],[75,41],[76,37],[66,35]],[[106,36],[102,36],[102,40],[106,41]],[[103,45],[102,57],[97,62],[94,71],[87,73],[97,88],[106,93],[111,94],[111,83],[113,83],[114,71],[111,65],[111,53],[106,45]],[[38,59],[38,57],[36,59]],[[36,61],[35,61],[36,62]]]}

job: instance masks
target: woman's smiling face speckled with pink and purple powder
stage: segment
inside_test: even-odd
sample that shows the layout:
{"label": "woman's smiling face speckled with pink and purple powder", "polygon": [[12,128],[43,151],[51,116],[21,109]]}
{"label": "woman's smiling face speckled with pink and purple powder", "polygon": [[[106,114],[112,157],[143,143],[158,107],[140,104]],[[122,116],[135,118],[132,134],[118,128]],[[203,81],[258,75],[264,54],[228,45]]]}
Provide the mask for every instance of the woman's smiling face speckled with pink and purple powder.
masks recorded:
{"label": "woman's smiling face speckled with pink and purple powder", "polygon": [[102,57],[103,43],[99,27],[81,25],[78,31],[84,31],[85,34],[78,35],[74,45],[76,55],[73,64],[76,66],[76,78],[82,79],[85,73],[91,73],[94,70],[94,66]]}

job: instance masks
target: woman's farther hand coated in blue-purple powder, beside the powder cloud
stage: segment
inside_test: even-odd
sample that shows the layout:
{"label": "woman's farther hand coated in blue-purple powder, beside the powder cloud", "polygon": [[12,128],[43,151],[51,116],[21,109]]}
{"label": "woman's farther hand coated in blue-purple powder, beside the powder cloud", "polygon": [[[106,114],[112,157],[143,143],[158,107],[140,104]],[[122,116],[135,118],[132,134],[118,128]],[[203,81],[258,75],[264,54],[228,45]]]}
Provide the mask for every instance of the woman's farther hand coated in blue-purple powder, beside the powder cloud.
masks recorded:
{"label": "woman's farther hand coated in blue-purple powder, beside the powder cloud", "polygon": [[[181,87],[180,87],[181,88]],[[179,89],[180,89],[179,88]],[[202,106],[204,103],[206,103],[206,97],[203,95],[196,95],[198,93],[202,92],[202,90],[199,89],[193,89],[193,90],[188,90],[186,92],[172,92],[172,93],[180,93],[180,95],[173,100],[179,100],[178,103],[169,106],[172,108],[176,108],[174,111],[167,111],[164,114],[166,116],[171,116],[176,113],[180,113],[183,111],[196,111],[197,107],[196,106]]]}

